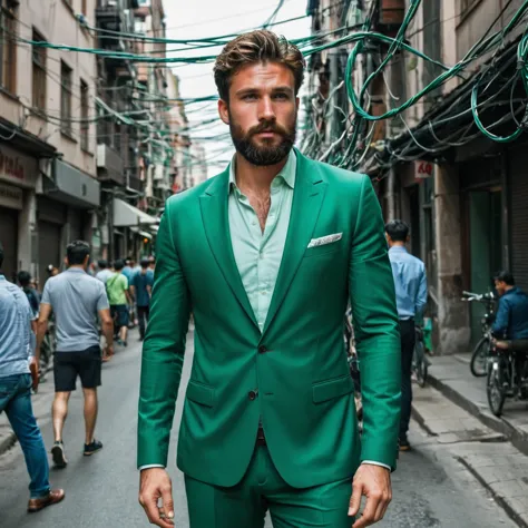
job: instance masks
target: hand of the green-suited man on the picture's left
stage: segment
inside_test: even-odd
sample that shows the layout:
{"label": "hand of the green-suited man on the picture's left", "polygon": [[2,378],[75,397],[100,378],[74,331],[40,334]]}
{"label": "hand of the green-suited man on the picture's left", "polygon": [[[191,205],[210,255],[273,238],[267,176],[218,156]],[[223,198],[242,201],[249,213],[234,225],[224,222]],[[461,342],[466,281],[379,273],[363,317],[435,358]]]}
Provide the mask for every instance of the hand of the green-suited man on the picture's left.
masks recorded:
{"label": "hand of the green-suited man on the picture's left", "polygon": [[[158,507],[158,500],[162,506]],[[174,527],[173,485],[163,468],[144,469],[140,473],[139,503],[150,524],[162,528]]]}

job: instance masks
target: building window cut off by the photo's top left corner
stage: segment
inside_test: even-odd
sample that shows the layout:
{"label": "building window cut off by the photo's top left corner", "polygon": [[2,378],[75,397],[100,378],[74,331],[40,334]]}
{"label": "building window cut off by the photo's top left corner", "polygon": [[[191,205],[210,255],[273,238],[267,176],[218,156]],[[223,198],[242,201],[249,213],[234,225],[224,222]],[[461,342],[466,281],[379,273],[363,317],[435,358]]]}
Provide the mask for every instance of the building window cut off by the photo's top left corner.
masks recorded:
{"label": "building window cut off by the photo's top left corner", "polygon": [[9,0],[0,0],[0,86],[11,94],[17,89],[17,20]]}

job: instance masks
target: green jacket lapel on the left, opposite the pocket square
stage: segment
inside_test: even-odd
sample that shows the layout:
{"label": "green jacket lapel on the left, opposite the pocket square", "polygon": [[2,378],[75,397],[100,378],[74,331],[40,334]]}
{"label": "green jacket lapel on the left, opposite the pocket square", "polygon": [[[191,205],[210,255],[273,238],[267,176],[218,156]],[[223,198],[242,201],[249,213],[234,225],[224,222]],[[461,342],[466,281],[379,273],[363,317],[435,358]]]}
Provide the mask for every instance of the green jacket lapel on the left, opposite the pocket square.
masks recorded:
{"label": "green jacket lapel on the left, opposite the pocket square", "polygon": [[233,253],[227,211],[228,185],[229,168],[219,174],[199,197],[202,221],[218,267],[247,316],[258,327]]}

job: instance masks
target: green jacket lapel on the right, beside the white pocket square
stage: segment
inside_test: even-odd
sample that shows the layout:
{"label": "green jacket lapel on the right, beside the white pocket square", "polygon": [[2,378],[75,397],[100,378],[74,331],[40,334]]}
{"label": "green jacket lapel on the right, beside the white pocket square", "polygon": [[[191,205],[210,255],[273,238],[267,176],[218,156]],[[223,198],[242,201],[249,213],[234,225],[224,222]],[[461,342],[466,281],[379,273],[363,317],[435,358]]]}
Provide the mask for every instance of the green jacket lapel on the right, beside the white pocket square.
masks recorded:
{"label": "green jacket lapel on the right, beside the white pocket square", "polygon": [[262,332],[263,336],[281,307],[301,264],[317,223],[326,192],[326,183],[321,177],[317,166],[296,149],[295,154],[297,156],[297,167],[290,226],[275,290]]}

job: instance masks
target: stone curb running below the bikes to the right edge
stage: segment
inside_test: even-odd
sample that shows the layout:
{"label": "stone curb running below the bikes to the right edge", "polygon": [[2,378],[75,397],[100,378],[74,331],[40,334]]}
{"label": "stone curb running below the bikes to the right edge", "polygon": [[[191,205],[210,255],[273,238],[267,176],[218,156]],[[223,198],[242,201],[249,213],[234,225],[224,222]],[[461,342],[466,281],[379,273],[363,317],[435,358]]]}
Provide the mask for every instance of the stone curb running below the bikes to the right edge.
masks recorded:
{"label": "stone curb running below the bikes to the right edge", "polygon": [[461,407],[465,411],[480,420],[486,427],[503,434],[514,447],[528,456],[528,433],[512,426],[508,419],[496,418],[491,413],[485,412],[479,405],[436,378],[431,372],[428,374],[428,383],[451,400],[456,405]]}

